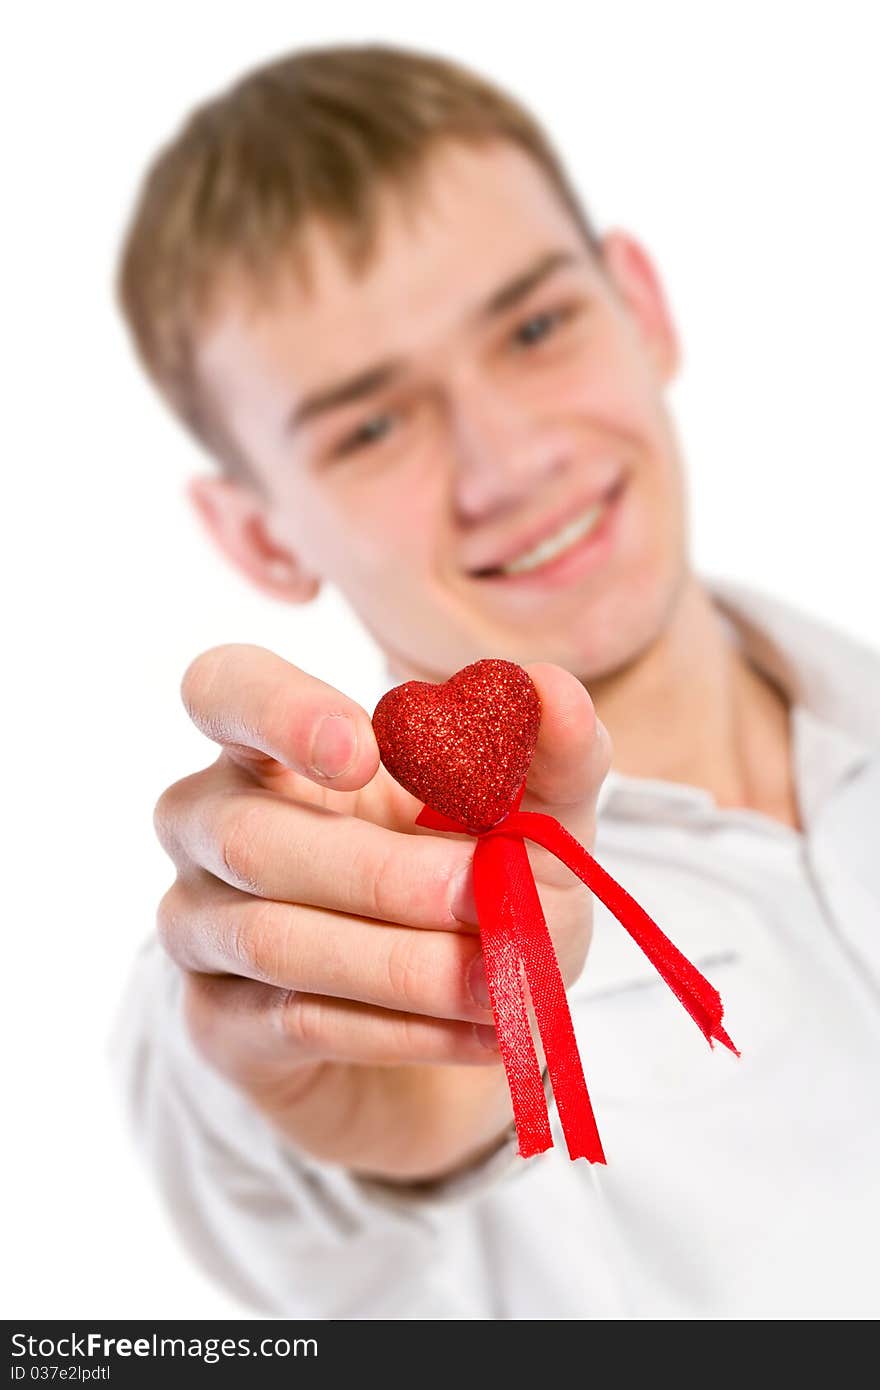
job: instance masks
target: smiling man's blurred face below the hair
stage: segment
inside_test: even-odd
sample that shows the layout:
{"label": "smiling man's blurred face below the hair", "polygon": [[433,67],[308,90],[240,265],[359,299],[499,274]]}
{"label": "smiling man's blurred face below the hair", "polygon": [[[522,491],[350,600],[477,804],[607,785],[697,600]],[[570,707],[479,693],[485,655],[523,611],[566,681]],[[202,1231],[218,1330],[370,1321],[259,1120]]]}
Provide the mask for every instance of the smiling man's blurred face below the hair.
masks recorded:
{"label": "smiling man's blurred face below the hair", "polygon": [[599,260],[503,142],[442,146],[406,206],[385,193],[357,278],[327,229],[307,246],[309,289],[229,281],[202,342],[264,492],[227,548],[257,582],[289,559],[291,598],[335,584],[400,676],[500,656],[589,680],[637,656],[687,566],[677,350],[638,246]]}

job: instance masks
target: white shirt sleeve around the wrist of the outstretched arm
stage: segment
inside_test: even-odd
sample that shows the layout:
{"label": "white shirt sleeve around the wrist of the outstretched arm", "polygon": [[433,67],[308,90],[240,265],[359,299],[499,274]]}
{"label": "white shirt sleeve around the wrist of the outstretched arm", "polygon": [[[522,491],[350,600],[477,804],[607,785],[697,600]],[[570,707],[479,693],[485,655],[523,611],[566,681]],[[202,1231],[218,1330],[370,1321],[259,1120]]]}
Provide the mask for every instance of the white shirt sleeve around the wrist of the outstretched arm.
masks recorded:
{"label": "white shirt sleeve around the wrist of the outstretched arm", "polygon": [[209,1276],[271,1316],[492,1316],[474,1202],[527,1168],[513,1127],[478,1163],[435,1182],[386,1183],[316,1161],[202,1058],[182,983],[152,938],[111,1065],[171,1219]]}

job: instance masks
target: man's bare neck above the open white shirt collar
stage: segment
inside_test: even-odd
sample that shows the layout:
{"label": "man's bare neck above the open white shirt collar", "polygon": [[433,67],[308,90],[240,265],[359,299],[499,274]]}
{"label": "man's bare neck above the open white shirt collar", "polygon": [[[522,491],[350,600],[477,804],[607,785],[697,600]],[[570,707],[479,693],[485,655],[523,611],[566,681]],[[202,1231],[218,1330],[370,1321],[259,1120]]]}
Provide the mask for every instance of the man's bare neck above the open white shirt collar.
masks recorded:
{"label": "man's bare neck above the open white shirt collar", "polygon": [[787,701],[731,642],[695,577],[660,637],[587,685],[616,771],[703,787],[719,806],[801,828]]}

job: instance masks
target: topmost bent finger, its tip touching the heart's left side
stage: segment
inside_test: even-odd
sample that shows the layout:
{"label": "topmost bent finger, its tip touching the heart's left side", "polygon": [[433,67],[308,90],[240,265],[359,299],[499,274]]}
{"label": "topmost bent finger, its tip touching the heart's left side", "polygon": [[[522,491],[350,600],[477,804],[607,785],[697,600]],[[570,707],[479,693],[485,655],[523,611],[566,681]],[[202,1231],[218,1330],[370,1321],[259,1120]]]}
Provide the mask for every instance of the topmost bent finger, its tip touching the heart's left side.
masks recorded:
{"label": "topmost bent finger, its tip touching the heart's left side", "polygon": [[203,652],[186,669],[181,695],[196,727],[257,773],[286,767],[352,791],[378,767],[367,712],[266,648]]}

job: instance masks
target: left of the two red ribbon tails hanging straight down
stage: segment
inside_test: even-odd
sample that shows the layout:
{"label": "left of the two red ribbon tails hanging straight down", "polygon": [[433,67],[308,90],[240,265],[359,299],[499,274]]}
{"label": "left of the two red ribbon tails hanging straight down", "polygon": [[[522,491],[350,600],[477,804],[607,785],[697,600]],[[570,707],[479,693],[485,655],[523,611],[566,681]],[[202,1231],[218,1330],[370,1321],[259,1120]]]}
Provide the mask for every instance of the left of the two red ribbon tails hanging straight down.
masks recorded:
{"label": "left of the two red ribbon tails hanging straight down", "polygon": [[512,915],[506,853],[500,840],[478,840],[474,849],[474,897],[480,919],[482,958],[489,999],[507,1074],[520,1155],[531,1158],[552,1148],[544,1079],[531,1036],[520,954]]}

